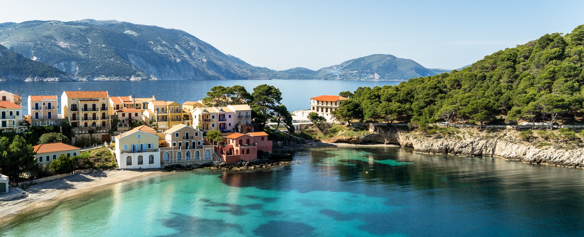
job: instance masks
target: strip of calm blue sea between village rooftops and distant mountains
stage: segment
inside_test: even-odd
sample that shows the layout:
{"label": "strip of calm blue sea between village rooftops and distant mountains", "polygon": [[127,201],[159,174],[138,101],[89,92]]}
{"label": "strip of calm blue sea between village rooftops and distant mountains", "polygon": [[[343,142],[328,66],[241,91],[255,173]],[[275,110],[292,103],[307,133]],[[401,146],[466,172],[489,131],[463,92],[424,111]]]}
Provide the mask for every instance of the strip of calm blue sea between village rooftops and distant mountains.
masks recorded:
{"label": "strip of calm blue sea between village rooftops and distant mountains", "polygon": [[[282,92],[282,103],[290,111],[310,108],[310,98],[319,95],[338,95],[359,86],[397,85],[401,81],[318,81],[318,80],[227,80],[227,81],[93,81],[93,82],[0,82],[0,90],[23,97],[23,107],[29,95],[57,95],[64,90],[107,90],[110,96],[152,97],[178,103],[197,101],[206,97],[213,86],[245,86],[248,92],[258,85],[276,86]],[[27,114],[27,110],[24,114]]]}

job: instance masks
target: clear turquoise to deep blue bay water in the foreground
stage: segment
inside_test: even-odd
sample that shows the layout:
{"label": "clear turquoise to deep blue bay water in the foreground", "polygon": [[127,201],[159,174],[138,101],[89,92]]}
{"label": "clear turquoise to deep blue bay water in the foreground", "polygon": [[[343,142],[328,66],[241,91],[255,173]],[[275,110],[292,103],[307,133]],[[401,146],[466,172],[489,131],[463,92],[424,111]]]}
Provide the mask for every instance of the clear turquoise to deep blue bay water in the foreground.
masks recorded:
{"label": "clear turquoise to deep blue bay water in the foreground", "polygon": [[272,170],[114,184],[22,215],[0,235],[583,236],[583,177],[396,147],[299,149]]}

